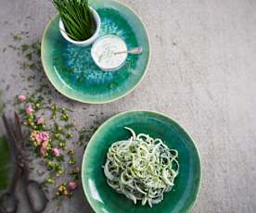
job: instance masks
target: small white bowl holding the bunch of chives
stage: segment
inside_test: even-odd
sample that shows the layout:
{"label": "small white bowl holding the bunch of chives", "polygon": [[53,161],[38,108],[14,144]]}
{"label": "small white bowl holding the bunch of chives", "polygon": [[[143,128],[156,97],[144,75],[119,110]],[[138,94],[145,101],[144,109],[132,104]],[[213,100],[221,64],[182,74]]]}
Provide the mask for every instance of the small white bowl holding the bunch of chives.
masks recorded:
{"label": "small white bowl holding the bunch of chives", "polygon": [[100,21],[100,18],[98,16],[96,10],[94,8],[92,8],[91,6],[90,6],[90,9],[91,9],[93,16],[95,18],[95,21],[96,21],[96,31],[89,39],[87,39],[85,41],[74,41],[74,40],[70,39],[70,36],[65,31],[65,27],[64,27],[62,20],[59,19],[59,31],[66,41],[70,42],[71,44],[75,44],[75,45],[79,45],[79,46],[88,46],[88,45],[93,44],[96,41],[96,39],[98,37],[99,30],[100,30],[101,21]]}

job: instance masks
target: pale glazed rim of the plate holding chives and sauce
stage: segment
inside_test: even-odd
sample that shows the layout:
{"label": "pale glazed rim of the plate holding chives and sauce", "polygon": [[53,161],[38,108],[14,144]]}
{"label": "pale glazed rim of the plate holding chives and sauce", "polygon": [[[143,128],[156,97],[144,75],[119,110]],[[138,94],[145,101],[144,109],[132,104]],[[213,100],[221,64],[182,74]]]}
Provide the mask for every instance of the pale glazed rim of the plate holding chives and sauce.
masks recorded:
{"label": "pale glazed rim of the plate holding chives and sauce", "polygon": [[[121,2],[119,2],[119,1],[117,1],[117,0],[112,0],[112,1],[118,3],[118,4],[122,5],[122,6],[125,6],[125,7],[127,7],[128,9],[130,9],[130,11],[134,13],[134,16],[136,16],[137,19],[139,19],[139,21],[141,22],[141,24],[142,24],[144,30],[146,31],[147,41],[148,41],[148,60],[147,60],[147,67],[146,67],[146,69],[145,69],[145,71],[144,71],[144,74],[142,75],[141,79],[134,85],[134,87],[133,87],[132,89],[128,90],[126,93],[124,93],[124,94],[122,94],[122,95],[120,95],[120,96],[118,96],[118,97],[109,99],[109,100],[107,100],[107,101],[84,101],[83,99],[80,99],[79,97],[71,97],[70,94],[65,94],[64,92],[60,91],[60,89],[59,89],[59,88],[54,84],[54,82],[49,78],[49,74],[48,74],[48,72],[47,72],[47,69],[45,68],[45,61],[42,60],[43,68],[44,68],[44,70],[45,70],[45,74],[46,74],[48,80],[49,80],[49,81],[52,83],[52,85],[57,89],[58,93],[60,93],[60,94],[62,94],[62,95],[64,95],[64,96],[70,98],[71,100],[75,100],[75,101],[78,101],[78,102],[81,102],[81,103],[86,103],[86,104],[95,104],[95,105],[101,105],[101,104],[107,104],[107,103],[110,103],[110,102],[114,102],[114,101],[119,100],[119,99],[121,99],[122,97],[126,96],[127,94],[131,94],[131,93],[134,91],[134,89],[141,83],[141,81],[143,81],[144,77],[145,77],[146,74],[147,74],[147,69],[148,69],[149,64],[150,64],[150,61],[151,61],[151,42],[150,42],[150,38],[149,38],[149,36],[148,36],[148,32],[147,32],[146,25],[145,25],[145,23],[143,22],[143,20],[140,18],[140,16],[138,16],[138,15],[136,14],[136,12],[134,12],[134,9],[133,9],[132,7],[127,6],[126,4],[121,3]],[[57,17],[58,17],[58,15],[56,15],[56,16],[54,17],[54,19],[56,19]],[[52,20],[49,21],[48,24],[47,24],[46,27],[45,27],[45,31],[44,31],[44,33],[43,33],[43,39],[42,39],[41,47],[43,47],[44,44],[45,44],[45,41],[44,41],[45,33],[46,33],[46,30],[48,29],[49,25],[51,24],[51,22],[52,22]],[[44,55],[45,55],[44,48],[41,48],[41,58],[43,58]]]}

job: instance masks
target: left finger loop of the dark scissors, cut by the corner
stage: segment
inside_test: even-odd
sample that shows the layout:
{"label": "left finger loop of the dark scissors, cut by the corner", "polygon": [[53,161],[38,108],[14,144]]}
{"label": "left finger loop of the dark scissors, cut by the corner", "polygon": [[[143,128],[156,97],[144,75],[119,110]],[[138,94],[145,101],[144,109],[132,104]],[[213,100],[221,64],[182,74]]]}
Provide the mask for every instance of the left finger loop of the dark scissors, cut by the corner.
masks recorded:
{"label": "left finger loop of the dark scissors, cut by the corner", "polygon": [[6,193],[0,197],[0,212],[2,213],[16,213],[18,209],[19,200],[15,194]]}

